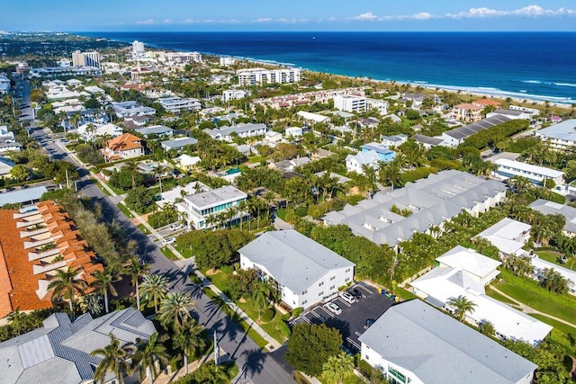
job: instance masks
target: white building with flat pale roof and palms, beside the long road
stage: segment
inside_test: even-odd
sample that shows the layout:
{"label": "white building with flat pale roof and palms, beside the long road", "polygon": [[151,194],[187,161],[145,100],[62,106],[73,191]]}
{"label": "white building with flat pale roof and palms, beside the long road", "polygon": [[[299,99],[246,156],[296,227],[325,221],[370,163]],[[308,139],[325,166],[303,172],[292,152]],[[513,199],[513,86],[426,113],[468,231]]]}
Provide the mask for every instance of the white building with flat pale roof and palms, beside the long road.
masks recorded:
{"label": "white building with flat pale roof and palms, beside the long road", "polygon": [[238,204],[246,199],[245,192],[225,185],[208,192],[188,195],[177,205],[187,213],[189,228],[206,229],[237,223],[241,218],[246,218],[247,212],[240,210],[235,211],[232,217],[227,214],[229,209],[238,208]]}

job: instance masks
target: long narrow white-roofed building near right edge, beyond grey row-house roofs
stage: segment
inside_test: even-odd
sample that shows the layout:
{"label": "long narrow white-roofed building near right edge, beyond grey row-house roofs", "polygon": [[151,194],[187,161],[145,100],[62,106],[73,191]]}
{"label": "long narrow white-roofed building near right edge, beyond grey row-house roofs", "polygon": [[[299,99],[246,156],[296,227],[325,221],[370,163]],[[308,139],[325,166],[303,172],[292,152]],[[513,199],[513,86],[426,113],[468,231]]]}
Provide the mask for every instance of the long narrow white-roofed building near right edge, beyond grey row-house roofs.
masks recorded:
{"label": "long narrow white-roofed building near right edge, beyond grey row-house roofs", "polygon": [[500,180],[508,180],[511,177],[526,177],[532,183],[544,185],[545,180],[552,180],[554,185],[564,184],[564,173],[555,169],[546,168],[545,166],[522,163],[508,158],[499,158],[493,161],[498,169],[493,175]]}

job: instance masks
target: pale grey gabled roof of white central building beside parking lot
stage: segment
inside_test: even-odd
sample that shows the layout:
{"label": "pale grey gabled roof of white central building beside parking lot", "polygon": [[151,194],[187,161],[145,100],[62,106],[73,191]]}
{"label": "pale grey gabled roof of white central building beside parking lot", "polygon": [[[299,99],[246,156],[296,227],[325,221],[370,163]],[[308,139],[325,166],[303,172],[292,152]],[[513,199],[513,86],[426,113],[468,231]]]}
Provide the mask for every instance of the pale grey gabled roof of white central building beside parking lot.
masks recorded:
{"label": "pale grey gabled roof of white central building beside parking lot", "polygon": [[266,232],[238,252],[297,293],[331,270],[355,265],[293,229]]}

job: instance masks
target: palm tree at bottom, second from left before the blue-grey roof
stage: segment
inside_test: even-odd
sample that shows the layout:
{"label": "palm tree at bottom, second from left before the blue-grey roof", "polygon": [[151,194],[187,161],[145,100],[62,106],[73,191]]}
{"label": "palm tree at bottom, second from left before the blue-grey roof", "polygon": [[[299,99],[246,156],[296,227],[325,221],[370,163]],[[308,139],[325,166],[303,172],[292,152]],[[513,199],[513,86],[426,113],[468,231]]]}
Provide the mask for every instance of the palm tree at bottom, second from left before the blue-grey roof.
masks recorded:
{"label": "palm tree at bottom, second from left before the blue-grey roof", "polygon": [[158,337],[158,334],[150,335],[148,340],[139,340],[136,353],[132,362],[132,370],[137,366],[140,368],[139,380],[143,381],[144,372],[150,380],[150,384],[154,383],[154,378],[159,373],[157,362],[160,366],[166,366],[170,362],[170,357],[166,353],[166,347],[163,342],[166,341],[168,335]]}

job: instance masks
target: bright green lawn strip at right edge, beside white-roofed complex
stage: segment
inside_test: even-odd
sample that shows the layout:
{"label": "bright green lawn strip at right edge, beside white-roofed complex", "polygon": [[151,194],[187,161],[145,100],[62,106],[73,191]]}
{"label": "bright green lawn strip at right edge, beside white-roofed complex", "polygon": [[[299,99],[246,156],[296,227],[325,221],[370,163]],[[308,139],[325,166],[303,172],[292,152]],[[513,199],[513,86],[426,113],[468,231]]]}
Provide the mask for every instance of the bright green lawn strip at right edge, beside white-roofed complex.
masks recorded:
{"label": "bright green lawn strip at right edge, beside white-roofed complex", "polygon": [[[505,273],[501,273],[500,276],[506,281],[498,282],[495,286],[510,297],[545,314],[562,318],[570,323],[576,322],[576,305],[564,307],[553,301],[551,296],[555,294],[544,288],[530,284],[528,281],[518,281],[519,278],[516,276],[509,276]],[[574,300],[567,295],[562,299],[565,299],[567,304]]]}

